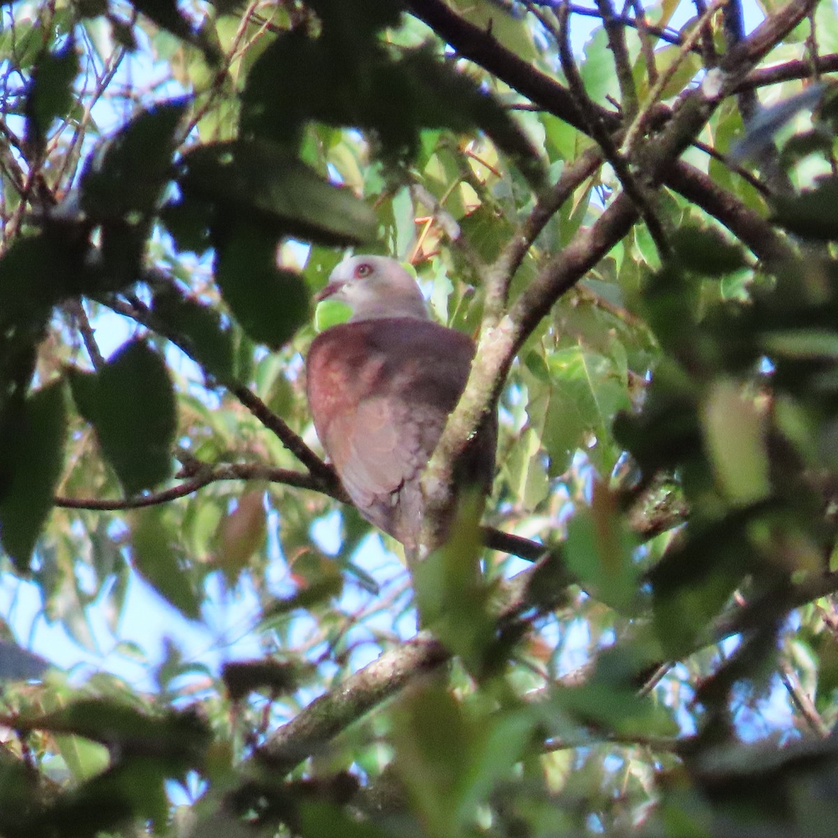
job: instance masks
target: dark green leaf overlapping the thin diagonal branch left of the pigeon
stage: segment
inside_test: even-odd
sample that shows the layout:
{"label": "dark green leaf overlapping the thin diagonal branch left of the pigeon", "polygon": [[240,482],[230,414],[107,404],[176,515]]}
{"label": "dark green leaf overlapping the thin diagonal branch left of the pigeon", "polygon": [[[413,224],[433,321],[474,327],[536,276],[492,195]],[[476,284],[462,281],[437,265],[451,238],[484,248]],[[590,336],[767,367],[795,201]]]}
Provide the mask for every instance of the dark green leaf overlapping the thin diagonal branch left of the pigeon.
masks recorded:
{"label": "dark green leaf overlapping the thin diagonal branch left of the pigeon", "polygon": [[152,310],[209,375],[233,377],[233,331],[215,308],[166,287],[154,295]]}

